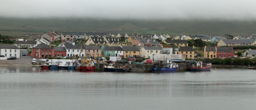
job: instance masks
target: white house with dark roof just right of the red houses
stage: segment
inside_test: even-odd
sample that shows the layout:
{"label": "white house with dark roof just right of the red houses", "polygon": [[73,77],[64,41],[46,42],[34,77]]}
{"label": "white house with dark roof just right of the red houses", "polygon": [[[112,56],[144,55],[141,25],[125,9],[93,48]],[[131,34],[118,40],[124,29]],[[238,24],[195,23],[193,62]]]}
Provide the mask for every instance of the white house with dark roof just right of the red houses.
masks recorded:
{"label": "white house with dark roof just right of the red houses", "polygon": [[62,45],[62,47],[65,47],[67,50],[67,57],[75,57],[76,55],[79,56],[80,54],[80,50],[81,50],[81,57],[85,56],[86,54],[86,49],[84,48],[84,46],[82,46],[82,44],[75,44],[75,42],[71,43],[65,43],[64,45]]}

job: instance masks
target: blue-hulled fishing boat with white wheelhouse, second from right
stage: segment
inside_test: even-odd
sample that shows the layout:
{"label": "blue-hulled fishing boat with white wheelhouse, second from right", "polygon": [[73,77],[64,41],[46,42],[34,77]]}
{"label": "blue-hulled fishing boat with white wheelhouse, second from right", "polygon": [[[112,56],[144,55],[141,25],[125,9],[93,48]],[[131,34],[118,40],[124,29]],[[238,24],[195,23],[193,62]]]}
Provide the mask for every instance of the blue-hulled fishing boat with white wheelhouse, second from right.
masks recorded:
{"label": "blue-hulled fishing boat with white wheelhouse, second from right", "polygon": [[151,68],[151,72],[175,72],[178,69],[178,64],[167,60],[166,63],[155,65],[156,67]]}

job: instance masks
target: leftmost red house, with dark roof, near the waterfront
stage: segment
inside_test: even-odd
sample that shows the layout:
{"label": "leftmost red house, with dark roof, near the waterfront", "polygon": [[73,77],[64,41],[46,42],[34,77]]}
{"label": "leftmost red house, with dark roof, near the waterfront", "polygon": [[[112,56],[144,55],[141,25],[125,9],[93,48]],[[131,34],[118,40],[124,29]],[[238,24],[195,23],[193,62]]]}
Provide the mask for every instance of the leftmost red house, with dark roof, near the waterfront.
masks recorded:
{"label": "leftmost red house, with dark roof, near the waterfront", "polygon": [[48,46],[45,43],[41,43],[32,48],[32,58],[46,59],[46,57],[53,57],[53,48],[51,44]]}

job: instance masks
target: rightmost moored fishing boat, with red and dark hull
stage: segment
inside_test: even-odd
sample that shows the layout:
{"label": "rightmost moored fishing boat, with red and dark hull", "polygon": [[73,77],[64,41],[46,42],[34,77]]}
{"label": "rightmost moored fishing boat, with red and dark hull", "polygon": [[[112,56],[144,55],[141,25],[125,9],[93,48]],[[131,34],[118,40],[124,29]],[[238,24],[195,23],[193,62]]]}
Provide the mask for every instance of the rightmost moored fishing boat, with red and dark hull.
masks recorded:
{"label": "rightmost moored fishing boat, with red and dark hull", "polygon": [[191,62],[188,70],[189,71],[210,71],[211,63],[204,63],[202,61]]}

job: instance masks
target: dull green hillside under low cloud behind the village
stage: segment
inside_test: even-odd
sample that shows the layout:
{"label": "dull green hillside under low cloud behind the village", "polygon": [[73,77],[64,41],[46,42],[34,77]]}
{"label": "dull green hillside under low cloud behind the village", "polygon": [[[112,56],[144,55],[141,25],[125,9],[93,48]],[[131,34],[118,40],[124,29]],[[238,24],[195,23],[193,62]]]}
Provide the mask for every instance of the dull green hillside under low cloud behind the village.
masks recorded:
{"label": "dull green hillside under low cloud behind the village", "polygon": [[100,19],[18,19],[0,18],[0,34],[23,36],[26,33],[41,34],[55,30],[66,32],[106,32],[133,34],[231,34],[255,33],[255,21],[221,20],[100,20]]}

